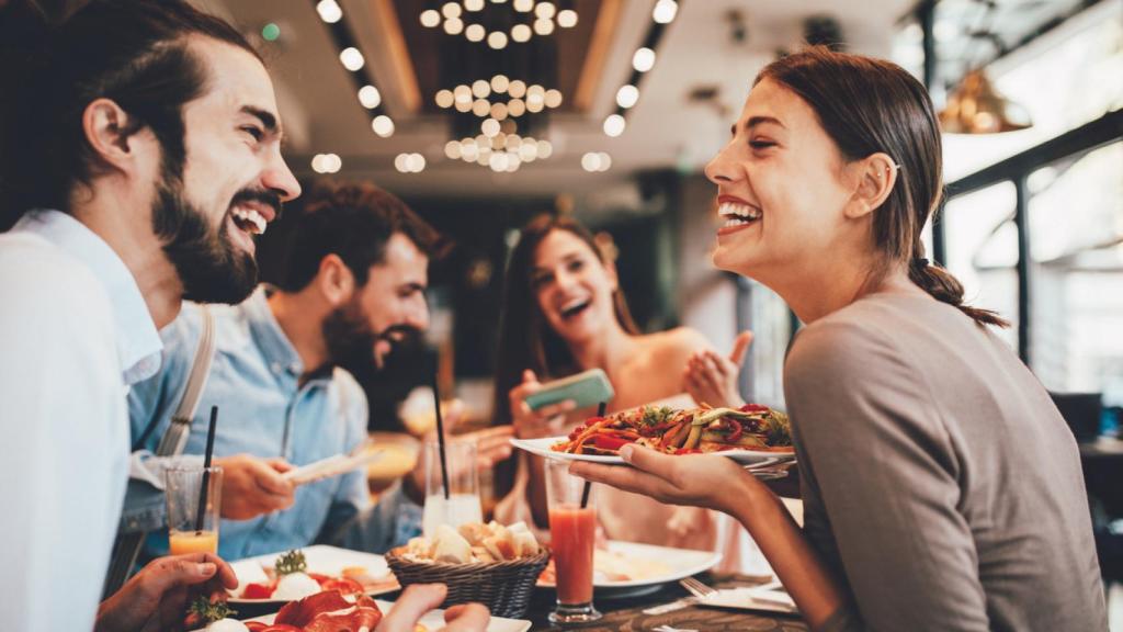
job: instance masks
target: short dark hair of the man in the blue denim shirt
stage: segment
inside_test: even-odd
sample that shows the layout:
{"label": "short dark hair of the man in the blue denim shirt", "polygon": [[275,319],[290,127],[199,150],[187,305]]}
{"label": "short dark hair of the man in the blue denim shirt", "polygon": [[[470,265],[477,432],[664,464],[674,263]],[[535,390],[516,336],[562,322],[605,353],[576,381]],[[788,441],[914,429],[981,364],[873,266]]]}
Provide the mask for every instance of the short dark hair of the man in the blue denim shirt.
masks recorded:
{"label": "short dark hair of the man in the blue denim shirt", "polygon": [[405,202],[369,182],[325,181],[314,189],[291,229],[287,265],[279,283],[284,291],[304,289],[329,254],[339,255],[355,282],[365,286],[371,267],[385,260],[386,242],[395,233],[430,259],[440,258],[450,245]]}

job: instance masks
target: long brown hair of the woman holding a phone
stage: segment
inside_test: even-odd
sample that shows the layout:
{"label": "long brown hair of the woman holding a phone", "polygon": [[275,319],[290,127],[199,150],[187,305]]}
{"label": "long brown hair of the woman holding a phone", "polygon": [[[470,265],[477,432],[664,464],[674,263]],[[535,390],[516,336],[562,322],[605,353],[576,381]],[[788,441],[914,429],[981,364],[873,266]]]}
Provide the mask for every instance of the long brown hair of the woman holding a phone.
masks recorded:
{"label": "long brown hair of the woman holding a phone", "polygon": [[[540,215],[530,220],[511,251],[506,265],[503,292],[503,315],[500,320],[499,363],[495,368],[496,425],[511,423],[508,394],[522,381],[522,371],[530,369],[539,379],[558,378],[577,370],[569,346],[546,322],[531,287],[531,271],[539,244],[554,231],[576,235],[593,251],[602,264],[608,264],[604,253],[587,228],[569,217]],[[617,320],[629,334],[639,333],[623,294],[612,295]]]}

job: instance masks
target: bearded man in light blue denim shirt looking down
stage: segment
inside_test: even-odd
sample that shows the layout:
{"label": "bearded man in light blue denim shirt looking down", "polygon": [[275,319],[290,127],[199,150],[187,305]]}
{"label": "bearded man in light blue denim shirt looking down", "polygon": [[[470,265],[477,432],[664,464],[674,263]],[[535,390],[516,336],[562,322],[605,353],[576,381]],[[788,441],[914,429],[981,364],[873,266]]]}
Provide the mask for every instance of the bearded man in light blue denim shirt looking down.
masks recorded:
{"label": "bearded man in light blue denim shirt looking down", "polygon": [[[219,344],[186,455],[156,458],[152,450],[171,423],[176,387],[201,335],[198,306],[185,304],[162,332],[162,373],[129,394],[137,450],[131,471],[152,493],[147,502],[129,503],[125,523],[155,532],[149,556],[167,545],[158,493],[163,470],[201,459],[208,426],[202,417],[211,406],[222,417],[214,462],[223,468],[223,558],[313,542],[383,552],[420,531],[420,463],[404,494],[391,488],[369,513],[365,471],[299,488],[281,473],[348,453],[366,439],[366,397],[341,365],[376,365],[396,340],[428,326],[427,268],[440,250],[438,236],[400,199],[366,183],[338,187],[295,219],[298,238],[280,287],[262,287],[238,306],[210,308]],[[509,427],[472,435],[481,466],[505,459],[509,437]],[[143,498],[136,484],[133,491]]]}

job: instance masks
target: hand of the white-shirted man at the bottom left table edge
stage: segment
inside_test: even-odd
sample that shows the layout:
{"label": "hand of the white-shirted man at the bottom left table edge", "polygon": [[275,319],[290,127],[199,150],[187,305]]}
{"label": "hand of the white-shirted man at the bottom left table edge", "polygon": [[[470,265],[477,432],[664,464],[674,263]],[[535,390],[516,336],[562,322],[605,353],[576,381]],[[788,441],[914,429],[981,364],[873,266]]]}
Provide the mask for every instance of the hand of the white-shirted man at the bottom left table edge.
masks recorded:
{"label": "hand of the white-shirted man at the bottom left table edge", "polygon": [[158,558],[98,608],[95,632],[182,630],[188,604],[237,588],[230,565],[211,553]]}

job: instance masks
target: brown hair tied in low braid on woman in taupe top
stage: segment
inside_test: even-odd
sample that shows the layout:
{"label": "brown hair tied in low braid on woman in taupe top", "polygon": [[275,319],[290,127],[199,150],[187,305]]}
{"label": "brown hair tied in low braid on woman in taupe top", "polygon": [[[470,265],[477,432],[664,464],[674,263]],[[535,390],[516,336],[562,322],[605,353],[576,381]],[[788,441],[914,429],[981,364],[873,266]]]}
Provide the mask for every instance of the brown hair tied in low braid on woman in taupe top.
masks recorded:
{"label": "brown hair tied in low braid on woman in taupe top", "polygon": [[874,214],[874,243],[884,254],[880,273],[904,265],[909,279],[933,298],[980,324],[1008,326],[996,313],[964,305],[964,287],[924,259],[921,232],[943,192],[940,127],[924,87],[884,60],[813,46],[760,71],[800,96],[848,161],[884,152],[900,166],[897,181]]}

